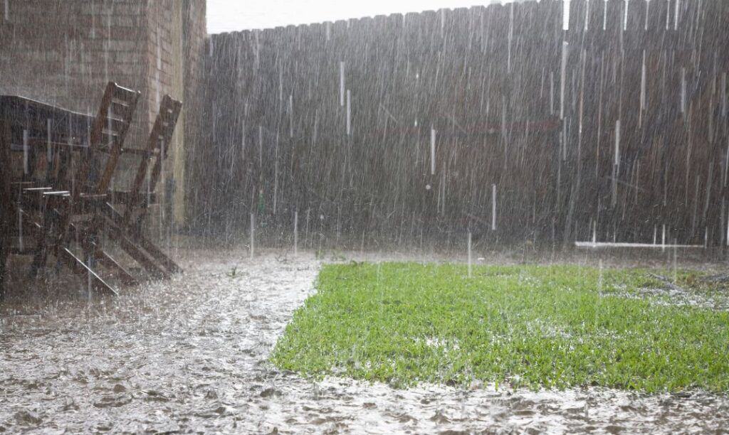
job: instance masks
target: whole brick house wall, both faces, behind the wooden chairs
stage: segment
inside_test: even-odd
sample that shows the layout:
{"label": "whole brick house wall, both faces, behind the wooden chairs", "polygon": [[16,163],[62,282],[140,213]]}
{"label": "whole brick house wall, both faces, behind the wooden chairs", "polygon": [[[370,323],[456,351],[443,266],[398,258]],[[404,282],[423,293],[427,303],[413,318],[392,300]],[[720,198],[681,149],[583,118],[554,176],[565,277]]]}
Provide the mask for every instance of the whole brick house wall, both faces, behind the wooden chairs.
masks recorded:
{"label": "whole brick house wall, both faces, behind the wooden chairs", "polygon": [[[0,0],[0,94],[95,113],[106,81],[116,81],[142,93],[125,145],[144,145],[161,97],[185,103],[185,90],[195,88],[204,16],[204,0]],[[176,130],[158,189],[184,201],[176,193],[184,183],[174,180],[184,180],[187,135]],[[134,163],[126,158],[121,167]],[[184,205],[176,210],[182,220]]]}

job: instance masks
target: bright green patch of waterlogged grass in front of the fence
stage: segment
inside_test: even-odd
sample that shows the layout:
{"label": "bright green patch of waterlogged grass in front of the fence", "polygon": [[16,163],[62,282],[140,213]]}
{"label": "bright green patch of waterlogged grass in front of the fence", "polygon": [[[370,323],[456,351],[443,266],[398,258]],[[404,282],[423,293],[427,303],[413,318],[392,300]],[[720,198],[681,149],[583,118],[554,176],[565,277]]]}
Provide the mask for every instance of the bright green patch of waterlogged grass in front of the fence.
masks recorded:
{"label": "bright green patch of waterlogged grass in front of the fence", "polygon": [[479,266],[468,278],[460,265],[327,265],[273,362],[395,386],[729,391],[729,313],[628,297],[651,286],[646,271],[580,266]]}

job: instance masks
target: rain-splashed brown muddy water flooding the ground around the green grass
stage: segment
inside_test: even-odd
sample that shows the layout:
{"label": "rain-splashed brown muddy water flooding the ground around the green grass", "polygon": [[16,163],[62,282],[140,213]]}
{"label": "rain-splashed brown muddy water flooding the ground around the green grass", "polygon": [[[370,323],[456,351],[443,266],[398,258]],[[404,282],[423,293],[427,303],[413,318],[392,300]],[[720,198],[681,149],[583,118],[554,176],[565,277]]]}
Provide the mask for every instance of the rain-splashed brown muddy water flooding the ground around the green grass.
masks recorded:
{"label": "rain-splashed brown muddy water flooding the ground around the green grass", "polygon": [[[120,298],[0,308],[0,432],[721,432],[729,398],[607,389],[396,390],[303,380],[268,354],[319,261],[184,253],[187,272]],[[234,269],[235,268],[235,269]]]}

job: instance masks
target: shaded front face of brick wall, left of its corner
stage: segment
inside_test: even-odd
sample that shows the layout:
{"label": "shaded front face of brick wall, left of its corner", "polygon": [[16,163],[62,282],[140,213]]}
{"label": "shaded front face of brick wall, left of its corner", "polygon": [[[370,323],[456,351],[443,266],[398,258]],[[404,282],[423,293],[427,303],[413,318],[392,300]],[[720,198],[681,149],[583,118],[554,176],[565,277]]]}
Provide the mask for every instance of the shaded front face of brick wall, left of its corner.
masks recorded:
{"label": "shaded front face of brick wall, left of its corner", "polygon": [[[3,6],[0,93],[95,113],[106,81],[144,89],[136,47],[146,26],[138,1],[8,0]],[[143,119],[140,110],[130,137],[147,131]]]}

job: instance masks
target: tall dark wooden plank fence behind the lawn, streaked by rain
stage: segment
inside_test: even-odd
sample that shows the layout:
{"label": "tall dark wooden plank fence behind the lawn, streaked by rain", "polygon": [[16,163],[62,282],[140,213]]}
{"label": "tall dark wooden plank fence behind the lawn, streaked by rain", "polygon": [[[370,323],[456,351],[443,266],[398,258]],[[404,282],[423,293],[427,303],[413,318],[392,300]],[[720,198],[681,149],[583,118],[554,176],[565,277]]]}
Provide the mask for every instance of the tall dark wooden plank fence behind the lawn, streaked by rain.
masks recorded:
{"label": "tall dark wooden plank fence behind the lawn, streaked by rain", "polygon": [[[334,246],[347,246],[336,237],[343,230],[364,231],[373,246],[394,234],[413,246],[412,227],[455,247],[476,225],[467,216],[491,208],[478,186],[495,184],[511,225],[491,242],[531,237],[558,247],[588,239],[592,222],[606,240],[648,242],[666,225],[684,244],[703,244],[705,234],[707,245],[725,244],[723,183],[706,175],[725,172],[726,162],[707,148],[696,153],[693,137],[712,132],[703,139],[710,148],[727,140],[725,127],[707,129],[725,119],[717,110],[725,61],[709,31],[720,12],[710,1],[649,4],[526,2],[212,35],[206,100],[211,110],[241,101],[249,110],[230,113],[225,127],[219,119],[206,140],[216,145],[199,150],[195,161],[232,168],[234,181],[208,183],[193,218],[232,207],[212,219],[240,228],[251,209],[240,192],[262,189],[281,244],[294,210],[313,209]],[[541,30],[553,37],[537,36],[537,16],[554,18]],[[590,31],[590,21],[605,31]],[[287,105],[270,99],[274,78]],[[484,81],[488,93],[478,89]],[[692,116],[699,111],[711,115]],[[258,137],[247,124],[259,124]],[[256,140],[262,155],[253,166],[235,145]],[[687,193],[689,185],[714,194]],[[425,205],[431,191],[440,209]],[[695,217],[694,203],[707,212]]]}

